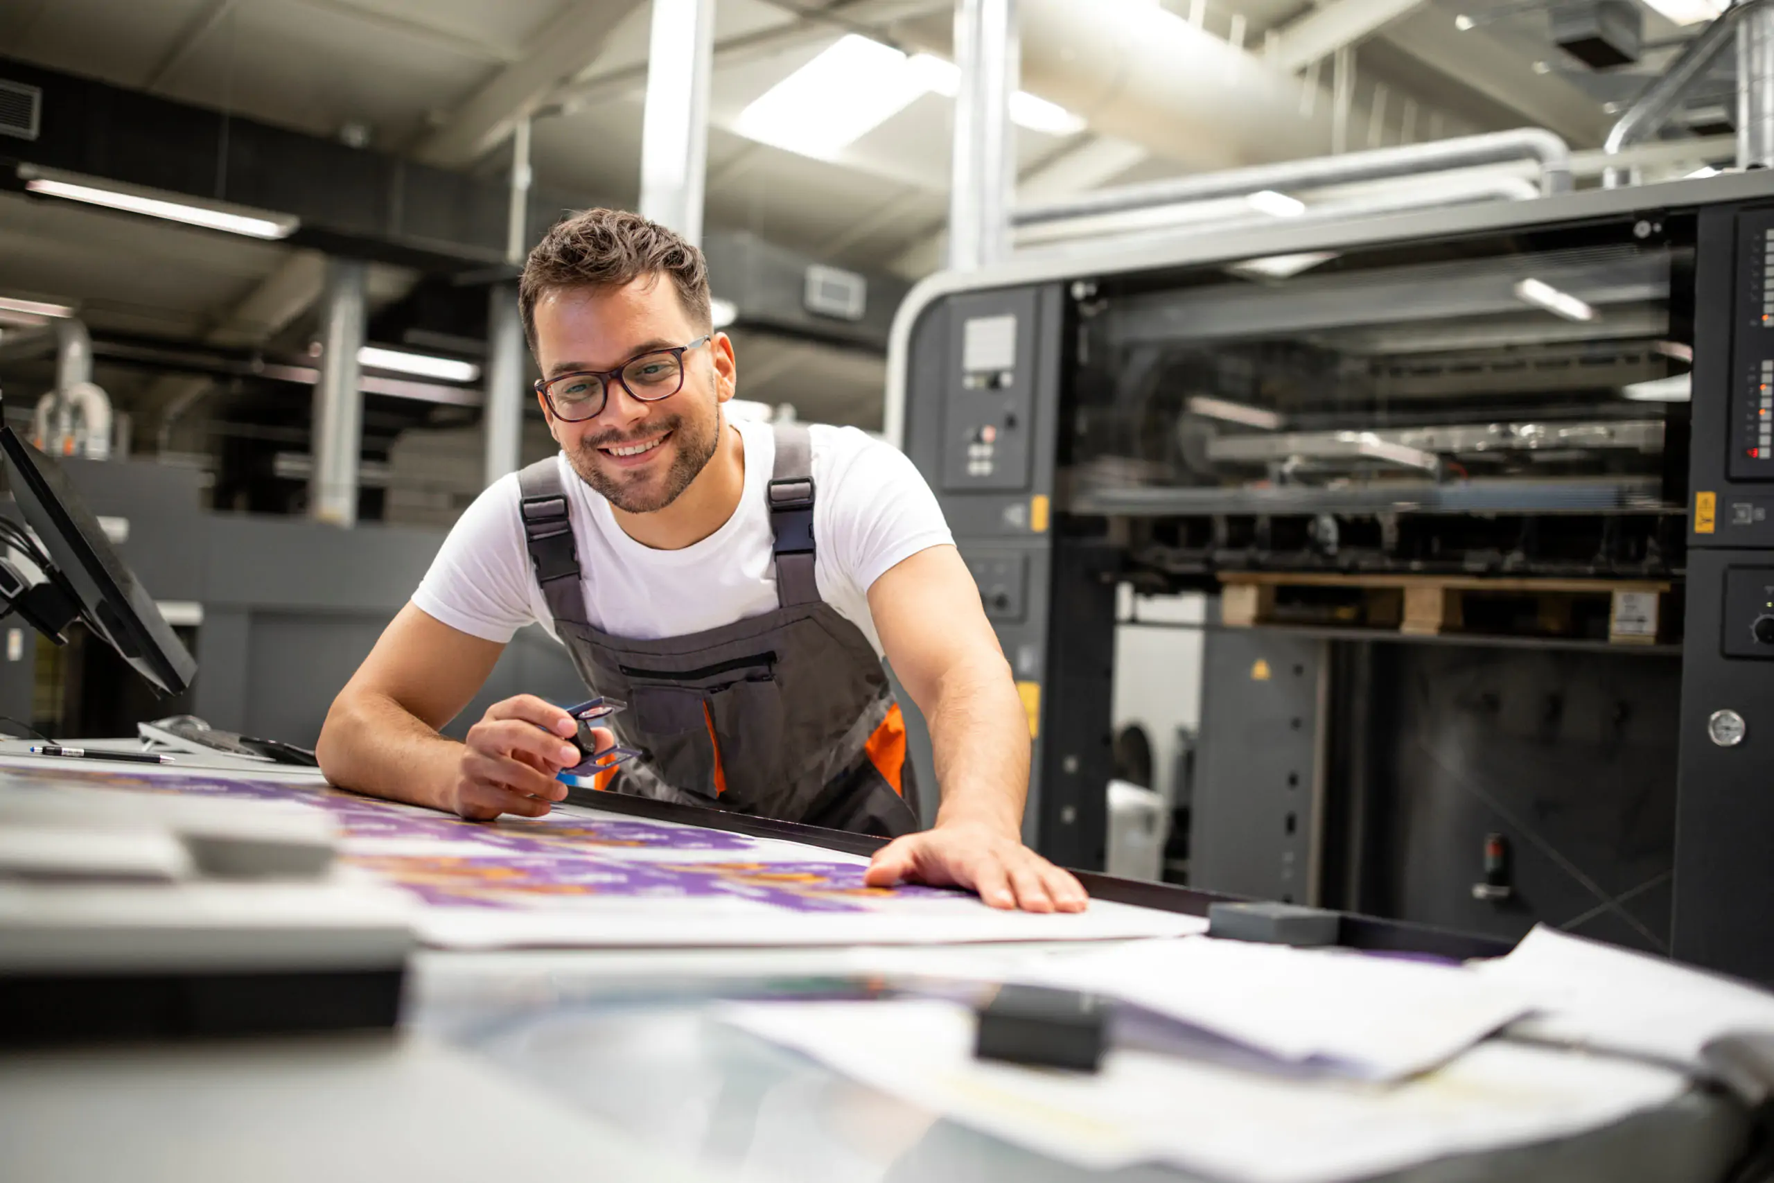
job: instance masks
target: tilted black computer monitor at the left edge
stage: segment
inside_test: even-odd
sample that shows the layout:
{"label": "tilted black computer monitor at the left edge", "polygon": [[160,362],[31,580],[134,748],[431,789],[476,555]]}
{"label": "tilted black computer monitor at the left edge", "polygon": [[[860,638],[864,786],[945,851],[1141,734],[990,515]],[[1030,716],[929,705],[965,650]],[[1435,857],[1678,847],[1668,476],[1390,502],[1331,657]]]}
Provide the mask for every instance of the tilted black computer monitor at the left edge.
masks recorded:
{"label": "tilted black computer monitor at the left edge", "polygon": [[[147,679],[163,697],[181,693],[197,674],[197,662],[160,615],[154,598],[112,548],[98,518],[53,459],[0,426],[0,452],[12,474],[12,497],[46,550],[28,555],[35,566],[50,560],[48,585],[23,587],[9,568],[0,587],[20,615],[53,640],[75,615]],[[28,539],[25,539],[28,541]],[[16,591],[16,594],[12,594]],[[57,594],[59,592],[59,594]]]}

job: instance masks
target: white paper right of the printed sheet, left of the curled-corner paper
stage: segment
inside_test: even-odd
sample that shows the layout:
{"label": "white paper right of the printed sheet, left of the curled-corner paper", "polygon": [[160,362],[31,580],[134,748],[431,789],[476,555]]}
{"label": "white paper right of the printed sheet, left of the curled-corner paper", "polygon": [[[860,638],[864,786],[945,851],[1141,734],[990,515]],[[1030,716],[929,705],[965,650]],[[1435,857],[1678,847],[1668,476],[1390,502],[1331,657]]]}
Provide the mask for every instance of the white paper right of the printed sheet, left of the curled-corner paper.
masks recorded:
{"label": "white paper right of the printed sheet, left of the curled-corner paper", "polygon": [[1456,965],[1206,936],[1056,952],[1013,977],[1103,993],[1370,1080],[1433,1068],[1527,1011],[1520,991]]}

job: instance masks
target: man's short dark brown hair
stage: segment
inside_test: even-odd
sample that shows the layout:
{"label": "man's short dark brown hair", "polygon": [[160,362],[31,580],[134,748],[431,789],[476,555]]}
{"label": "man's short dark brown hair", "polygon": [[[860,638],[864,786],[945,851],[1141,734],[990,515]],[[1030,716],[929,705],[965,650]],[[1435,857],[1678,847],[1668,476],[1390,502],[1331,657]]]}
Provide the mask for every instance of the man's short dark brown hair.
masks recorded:
{"label": "man's short dark brown hair", "polygon": [[536,302],[562,287],[621,287],[642,275],[667,275],[690,325],[711,328],[708,262],[703,252],[658,222],[626,209],[582,209],[555,222],[523,264],[518,307],[536,353]]}

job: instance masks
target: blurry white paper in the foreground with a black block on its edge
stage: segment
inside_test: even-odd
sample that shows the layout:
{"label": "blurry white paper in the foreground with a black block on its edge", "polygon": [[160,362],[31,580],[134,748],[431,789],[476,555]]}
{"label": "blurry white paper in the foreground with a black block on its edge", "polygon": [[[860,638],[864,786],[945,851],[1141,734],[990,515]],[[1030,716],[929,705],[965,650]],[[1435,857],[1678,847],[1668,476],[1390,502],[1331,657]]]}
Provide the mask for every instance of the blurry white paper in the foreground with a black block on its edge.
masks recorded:
{"label": "blurry white paper in the foreground with a black block on its edge", "polygon": [[1091,1169],[1169,1162],[1251,1183],[1330,1183],[1600,1128],[1687,1085],[1660,1068],[1485,1043],[1400,1085],[1283,1080],[1112,1050],[1098,1075],[972,1059],[949,1002],[795,1002],[727,1022],[883,1093]]}

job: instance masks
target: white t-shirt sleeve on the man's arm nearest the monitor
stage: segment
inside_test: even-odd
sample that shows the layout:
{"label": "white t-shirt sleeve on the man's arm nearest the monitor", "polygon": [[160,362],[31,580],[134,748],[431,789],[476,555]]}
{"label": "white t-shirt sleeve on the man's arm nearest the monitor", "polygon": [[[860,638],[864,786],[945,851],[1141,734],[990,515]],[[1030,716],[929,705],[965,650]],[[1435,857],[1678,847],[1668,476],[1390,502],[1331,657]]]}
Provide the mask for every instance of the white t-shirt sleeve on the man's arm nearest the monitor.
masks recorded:
{"label": "white t-shirt sleeve on the man's arm nearest the monitor", "polygon": [[500,644],[536,621],[518,516],[518,477],[500,477],[461,514],[413,592],[413,605],[454,630]]}

